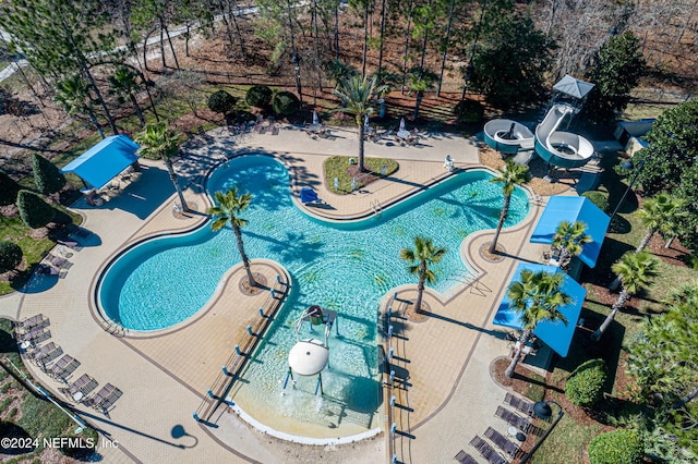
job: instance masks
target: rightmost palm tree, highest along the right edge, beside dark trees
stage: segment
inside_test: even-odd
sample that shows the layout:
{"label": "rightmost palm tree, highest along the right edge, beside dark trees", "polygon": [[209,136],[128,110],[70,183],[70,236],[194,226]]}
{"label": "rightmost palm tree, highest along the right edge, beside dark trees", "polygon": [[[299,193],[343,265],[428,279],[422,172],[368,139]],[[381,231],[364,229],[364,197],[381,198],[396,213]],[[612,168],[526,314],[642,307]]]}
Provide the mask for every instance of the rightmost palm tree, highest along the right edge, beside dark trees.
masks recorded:
{"label": "rightmost palm tree, highest along the right edge, beside dark trees", "polygon": [[[653,198],[648,198],[642,204],[642,208],[637,211],[637,217],[647,228],[647,233],[638,245],[636,252],[645,249],[652,235],[658,231],[663,235],[673,237],[677,232],[678,220],[686,216],[682,208],[686,206],[684,198],[678,198],[665,192],[657,194]],[[667,246],[671,245],[671,240]]]}

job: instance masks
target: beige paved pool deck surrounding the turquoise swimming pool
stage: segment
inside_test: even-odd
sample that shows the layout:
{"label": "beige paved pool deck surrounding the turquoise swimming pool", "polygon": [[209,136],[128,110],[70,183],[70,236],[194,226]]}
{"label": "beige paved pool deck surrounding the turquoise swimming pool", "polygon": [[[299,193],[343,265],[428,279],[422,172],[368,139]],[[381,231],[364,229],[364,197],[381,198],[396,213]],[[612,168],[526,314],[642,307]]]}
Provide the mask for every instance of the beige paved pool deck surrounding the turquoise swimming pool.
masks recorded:
{"label": "beige paved pool deck surrounding the turquoise swimming pool", "polygon": [[[111,334],[106,330],[94,304],[100,271],[134,243],[200,227],[209,206],[202,194],[205,174],[231,156],[254,152],[281,159],[289,167],[296,192],[309,185],[326,202],[324,208],[299,206],[330,219],[365,216],[373,212],[372,205],[385,207],[447,176],[443,167],[446,154],[452,155],[456,168],[479,166],[476,143],[457,135],[433,134],[417,147],[368,142],[368,157],[397,159],[400,169],[360,192],[335,195],[323,181],[323,161],[334,155],[354,156],[358,149],[356,130],[335,129],[333,133],[332,139],[312,139],[292,126],[281,127],[278,135],[232,135],[225,127],[210,131],[195,145],[185,145],[176,162],[186,202],[195,210],[185,215],[173,210],[177,196],[164,164],[143,161],[142,173],[110,194],[109,202],[97,207],[84,200],[73,205],[91,234],[80,239],[84,247],[68,258],[72,266],[64,279],[35,276],[23,291],[0,297],[1,316],[24,319],[44,314],[50,319],[51,341],[81,363],[70,380],[87,373],[99,382],[97,390],[109,382],[123,392],[108,414],[74,405],[79,414],[118,442],[111,447],[100,443],[104,462],[359,463],[389,462],[395,453],[398,462],[431,463],[453,462],[461,449],[484,462],[468,442],[488,426],[506,432],[506,424],[494,417],[494,412],[507,390],[492,380],[490,368],[496,358],[508,354],[508,347],[505,330],[492,326],[491,320],[516,265],[540,261],[544,246],[528,243],[543,209],[540,204],[531,206],[522,222],[503,231],[500,243],[506,253],[500,261],[490,261],[481,253],[493,231],[468,236],[460,253],[479,271],[477,282],[465,282],[448,295],[428,291],[431,315],[424,320],[410,320],[402,313],[394,319],[399,335],[393,339],[395,365],[400,366],[405,379],[400,384],[406,387],[384,391],[388,395],[385,402],[389,394],[396,394],[396,404],[401,406],[390,419],[398,431],[395,441],[386,432],[390,427],[387,419],[378,424],[384,431],[376,438],[306,447],[256,431],[225,407],[216,411],[209,424],[192,418],[192,412],[205,410],[206,388],[234,353],[234,344],[251,346],[245,343],[254,342],[245,327],[260,322],[255,319],[257,308],[274,303],[268,292],[242,294],[240,266],[224,277],[213,302],[191,320],[153,334],[124,335],[118,330]],[[253,259],[252,268],[269,284],[276,274],[281,281],[287,279],[286,271],[268,260]],[[400,301],[393,304],[404,309],[402,301],[413,297],[414,286],[398,291]],[[383,309],[390,295],[384,297]],[[279,288],[277,298],[281,297]],[[253,327],[256,331],[257,326]],[[529,357],[529,362],[535,365],[543,359]],[[28,359],[26,364],[47,390],[67,400],[58,391],[61,382]],[[378,417],[384,414],[387,411],[382,406]]]}

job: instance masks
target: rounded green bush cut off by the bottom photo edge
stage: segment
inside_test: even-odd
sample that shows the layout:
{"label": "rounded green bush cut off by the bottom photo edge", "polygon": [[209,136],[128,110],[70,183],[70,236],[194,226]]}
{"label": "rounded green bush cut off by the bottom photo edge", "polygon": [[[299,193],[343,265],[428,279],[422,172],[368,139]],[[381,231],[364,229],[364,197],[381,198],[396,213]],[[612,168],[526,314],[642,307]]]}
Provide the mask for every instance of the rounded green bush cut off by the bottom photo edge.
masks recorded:
{"label": "rounded green bush cut off by the bottom photo edge", "polygon": [[589,443],[591,464],[639,464],[645,443],[637,430],[623,429],[602,434]]}

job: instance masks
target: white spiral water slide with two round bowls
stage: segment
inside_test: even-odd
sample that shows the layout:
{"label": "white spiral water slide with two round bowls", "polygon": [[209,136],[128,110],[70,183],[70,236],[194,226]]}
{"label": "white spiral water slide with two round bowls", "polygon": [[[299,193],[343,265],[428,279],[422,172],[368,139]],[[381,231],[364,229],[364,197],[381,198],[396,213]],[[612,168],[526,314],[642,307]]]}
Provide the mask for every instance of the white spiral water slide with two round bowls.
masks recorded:
{"label": "white spiral water slide with two round bowls", "polygon": [[571,118],[574,111],[569,105],[553,105],[535,127],[535,134],[516,121],[492,120],[484,125],[484,142],[510,155],[535,148],[541,158],[559,168],[585,166],[593,155],[591,143],[577,134],[558,131],[565,117]]}

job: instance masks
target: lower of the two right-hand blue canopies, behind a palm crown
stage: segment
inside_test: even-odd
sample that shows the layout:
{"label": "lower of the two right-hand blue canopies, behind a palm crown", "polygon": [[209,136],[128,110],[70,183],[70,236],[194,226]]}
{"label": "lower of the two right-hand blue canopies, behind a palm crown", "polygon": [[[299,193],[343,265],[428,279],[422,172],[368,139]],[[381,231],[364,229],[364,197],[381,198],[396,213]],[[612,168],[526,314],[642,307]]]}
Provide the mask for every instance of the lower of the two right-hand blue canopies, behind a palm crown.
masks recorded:
{"label": "lower of the two right-hand blue canopies, behind a palm crown", "polygon": [[[564,274],[561,290],[571,297],[571,303],[562,306],[559,308],[559,312],[567,319],[567,326],[565,326],[562,321],[551,322],[550,320],[543,320],[538,323],[535,330],[533,330],[533,333],[561,356],[567,356],[569,345],[571,344],[571,338],[575,334],[575,328],[577,327],[577,321],[579,320],[579,314],[581,313],[581,306],[583,305],[585,297],[587,296],[587,291],[583,286],[578,284],[571,277],[567,276],[559,268],[555,266],[535,265],[530,262],[519,264],[519,266],[516,268],[516,271],[514,272],[512,282],[516,282],[520,279],[522,270],[530,270],[532,272],[559,272]],[[520,313],[513,309],[510,307],[510,304],[512,302],[509,301],[509,297],[505,294],[504,298],[502,300],[502,304],[500,305],[500,309],[497,309],[497,313],[494,315],[492,323],[520,330],[524,328]]]}

